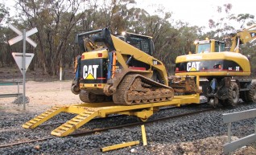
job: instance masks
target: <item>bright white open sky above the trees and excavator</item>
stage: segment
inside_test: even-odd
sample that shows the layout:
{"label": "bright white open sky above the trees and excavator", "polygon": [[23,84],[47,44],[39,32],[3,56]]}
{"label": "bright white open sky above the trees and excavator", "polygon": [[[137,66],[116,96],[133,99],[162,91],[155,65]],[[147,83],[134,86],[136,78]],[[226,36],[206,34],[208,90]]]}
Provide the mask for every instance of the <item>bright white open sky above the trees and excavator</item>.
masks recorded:
{"label": "bright white open sky above the trees and excavator", "polygon": [[[222,17],[217,13],[217,6],[231,3],[231,14],[254,14],[256,18],[255,0],[137,0],[138,7],[154,14],[157,6],[172,12],[172,18],[189,22],[191,26],[209,27],[209,19]],[[240,26],[235,26],[239,29]]]}

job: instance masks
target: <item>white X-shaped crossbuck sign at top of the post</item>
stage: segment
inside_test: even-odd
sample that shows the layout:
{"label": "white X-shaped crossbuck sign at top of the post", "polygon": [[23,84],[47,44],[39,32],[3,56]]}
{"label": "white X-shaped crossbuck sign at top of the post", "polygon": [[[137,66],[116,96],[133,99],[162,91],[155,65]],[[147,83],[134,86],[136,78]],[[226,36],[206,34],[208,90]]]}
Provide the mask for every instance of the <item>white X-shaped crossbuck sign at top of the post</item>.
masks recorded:
{"label": "white X-shaped crossbuck sign at top of the post", "polygon": [[[14,26],[11,25],[11,24],[9,25],[9,27],[10,27],[11,30],[13,30],[14,32],[16,32],[16,34],[19,35],[18,37],[15,37],[14,39],[10,39],[10,40],[8,41],[8,43],[9,43],[10,45],[13,45],[14,43],[17,43],[17,42],[19,42],[20,40],[23,39],[23,32],[22,32],[22,31],[19,31],[18,28],[14,27]],[[27,40],[27,42],[30,43],[33,47],[36,47],[37,44],[36,44],[32,39],[30,39],[29,36],[35,34],[36,32],[37,32],[37,28],[33,28],[33,29],[31,29],[30,31],[27,31],[27,32],[26,32],[26,40]]]}

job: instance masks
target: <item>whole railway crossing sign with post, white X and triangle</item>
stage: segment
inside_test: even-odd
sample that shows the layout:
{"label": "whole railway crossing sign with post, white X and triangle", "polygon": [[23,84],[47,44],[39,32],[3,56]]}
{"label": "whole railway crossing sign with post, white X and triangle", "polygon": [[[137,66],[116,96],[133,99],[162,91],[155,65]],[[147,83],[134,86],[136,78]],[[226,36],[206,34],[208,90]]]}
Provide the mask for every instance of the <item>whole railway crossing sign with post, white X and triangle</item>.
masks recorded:
{"label": "whole railway crossing sign with post, white X and triangle", "polygon": [[[17,53],[12,53],[12,55],[14,56],[14,59],[16,61],[16,63],[19,66],[20,71],[22,71],[23,73],[23,110],[26,110],[26,71],[27,71],[27,67],[29,66],[29,64],[31,63],[31,59],[33,59],[34,54],[26,54],[26,41],[28,43],[30,43],[33,47],[36,47],[36,43],[29,38],[30,35],[33,35],[37,32],[37,28],[33,28],[30,31],[27,31],[25,29],[23,29],[22,31],[19,31],[18,28],[14,27],[13,25],[9,25],[10,29],[13,30],[14,32],[16,32],[19,36],[15,37],[14,39],[10,39],[8,41],[8,43],[11,45],[13,45],[14,43],[17,43],[21,40],[23,40],[23,55],[19,55]],[[19,56],[22,56],[23,59],[20,61]],[[27,57],[30,57],[27,59]],[[26,59],[28,60],[26,62]]]}

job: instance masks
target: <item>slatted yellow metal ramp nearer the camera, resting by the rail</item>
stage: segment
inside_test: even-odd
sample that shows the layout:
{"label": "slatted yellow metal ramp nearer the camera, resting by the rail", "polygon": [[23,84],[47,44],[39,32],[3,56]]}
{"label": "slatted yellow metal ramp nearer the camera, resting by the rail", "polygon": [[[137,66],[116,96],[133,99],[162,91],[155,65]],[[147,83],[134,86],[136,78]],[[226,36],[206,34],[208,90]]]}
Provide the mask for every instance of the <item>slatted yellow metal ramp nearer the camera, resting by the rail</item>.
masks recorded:
{"label": "slatted yellow metal ramp nearer the camera, resting by the rail", "polygon": [[68,120],[66,123],[60,125],[60,127],[53,130],[51,134],[57,137],[67,136],[69,133],[74,132],[76,128],[80,128],[83,124],[89,122],[89,120],[93,120],[93,118],[96,116],[98,116],[98,110],[85,110],[85,112],[81,112],[71,120]]}

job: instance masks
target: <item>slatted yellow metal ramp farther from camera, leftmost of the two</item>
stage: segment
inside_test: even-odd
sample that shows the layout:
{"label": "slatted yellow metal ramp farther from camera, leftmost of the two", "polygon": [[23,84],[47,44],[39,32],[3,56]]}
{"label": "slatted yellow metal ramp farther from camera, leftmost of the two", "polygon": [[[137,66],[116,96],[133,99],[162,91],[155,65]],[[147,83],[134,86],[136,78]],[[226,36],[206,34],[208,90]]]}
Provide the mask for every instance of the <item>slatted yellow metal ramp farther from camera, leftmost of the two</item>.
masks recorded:
{"label": "slatted yellow metal ramp farther from camera, leftmost of the two", "polygon": [[48,109],[46,112],[43,112],[39,116],[35,116],[35,118],[28,120],[25,124],[23,124],[23,128],[35,128],[39,124],[42,124],[43,122],[49,120],[53,116],[58,115],[60,112],[64,112],[65,107],[52,107]]}

